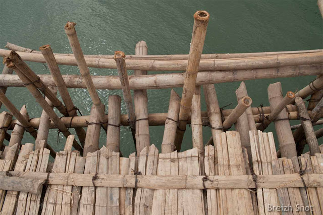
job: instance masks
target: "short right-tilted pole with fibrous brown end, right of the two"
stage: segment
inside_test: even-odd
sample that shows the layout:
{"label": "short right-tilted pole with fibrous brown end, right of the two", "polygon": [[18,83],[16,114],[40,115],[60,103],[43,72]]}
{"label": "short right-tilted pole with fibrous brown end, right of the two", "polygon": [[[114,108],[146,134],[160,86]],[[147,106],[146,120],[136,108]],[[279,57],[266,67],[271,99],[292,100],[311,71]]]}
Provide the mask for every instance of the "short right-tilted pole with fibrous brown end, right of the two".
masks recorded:
{"label": "short right-tilted pole with fibrous brown end, right of the two", "polygon": [[283,109],[285,109],[286,105],[291,102],[291,100],[294,100],[295,94],[292,91],[288,91],[281,100],[281,102],[276,106],[276,108],[272,111],[272,113],[264,119],[262,123],[258,123],[257,130],[265,130],[271,122],[273,122],[277,116],[282,112]]}

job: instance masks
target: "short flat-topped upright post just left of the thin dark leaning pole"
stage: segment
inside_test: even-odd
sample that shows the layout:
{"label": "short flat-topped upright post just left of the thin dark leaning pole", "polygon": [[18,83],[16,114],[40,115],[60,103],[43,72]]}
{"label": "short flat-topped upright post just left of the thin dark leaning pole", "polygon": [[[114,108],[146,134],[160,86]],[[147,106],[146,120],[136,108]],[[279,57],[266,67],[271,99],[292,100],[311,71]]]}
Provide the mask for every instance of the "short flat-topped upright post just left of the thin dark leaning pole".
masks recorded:
{"label": "short flat-topped upright post just left of the thin dark leaning pole", "polygon": [[107,125],[106,131],[106,148],[115,152],[119,152],[121,124],[121,97],[119,95],[109,96],[108,116],[109,124]]}

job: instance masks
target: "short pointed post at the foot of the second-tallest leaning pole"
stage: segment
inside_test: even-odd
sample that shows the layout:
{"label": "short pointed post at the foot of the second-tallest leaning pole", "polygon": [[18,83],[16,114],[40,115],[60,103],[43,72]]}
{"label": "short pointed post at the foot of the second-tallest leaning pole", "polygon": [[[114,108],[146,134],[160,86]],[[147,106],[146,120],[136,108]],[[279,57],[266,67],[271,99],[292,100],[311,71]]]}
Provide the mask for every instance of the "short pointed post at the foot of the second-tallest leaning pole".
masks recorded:
{"label": "short pointed post at the foot of the second-tallest leaning pole", "polygon": [[99,139],[100,139],[100,130],[101,125],[99,124],[99,113],[96,109],[96,106],[93,104],[90,112],[90,119],[88,122],[85,144],[84,144],[84,153],[83,156],[86,157],[87,153],[94,152],[99,150]]}

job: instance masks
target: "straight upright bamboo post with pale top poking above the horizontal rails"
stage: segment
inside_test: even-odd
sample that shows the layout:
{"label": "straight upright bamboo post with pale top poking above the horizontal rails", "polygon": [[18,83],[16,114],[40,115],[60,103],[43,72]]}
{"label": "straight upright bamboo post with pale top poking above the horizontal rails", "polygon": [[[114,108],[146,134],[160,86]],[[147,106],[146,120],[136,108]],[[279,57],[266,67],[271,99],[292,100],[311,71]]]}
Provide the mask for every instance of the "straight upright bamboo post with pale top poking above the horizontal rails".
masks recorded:
{"label": "straight upright bamboo post with pale top poking above the horizontal rails", "polygon": [[[140,56],[148,55],[148,48],[145,41],[140,41],[136,44],[135,53]],[[147,75],[147,71],[135,70],[134,75]],[[139,145],[140,149],[137,152],[140,153],[144,147],[150,145],[147,90],[134,90],[133,94],[135,116],[137,119],[142,119],[136,121],[136,145]]]}

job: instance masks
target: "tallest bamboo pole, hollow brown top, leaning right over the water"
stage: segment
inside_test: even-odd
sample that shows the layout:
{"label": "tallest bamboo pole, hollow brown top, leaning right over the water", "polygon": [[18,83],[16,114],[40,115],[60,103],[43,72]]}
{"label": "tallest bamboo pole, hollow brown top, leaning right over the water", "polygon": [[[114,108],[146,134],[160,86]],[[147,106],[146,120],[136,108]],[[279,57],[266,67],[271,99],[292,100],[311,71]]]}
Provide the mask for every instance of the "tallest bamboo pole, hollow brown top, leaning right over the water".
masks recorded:
{"label": "tallest bamboo pole, hollow brown top, leaning right over the water", "polygon": [[192,40],[185,71],[181,108],[179,113],[179,124],[175,138],[175,146],[177,151],[181,150],[186,124],[190,115],[192,98],[195,92],[196,76],[202,55],[208,20],[209,14],[206,11],[197,11],[194,14]]}

